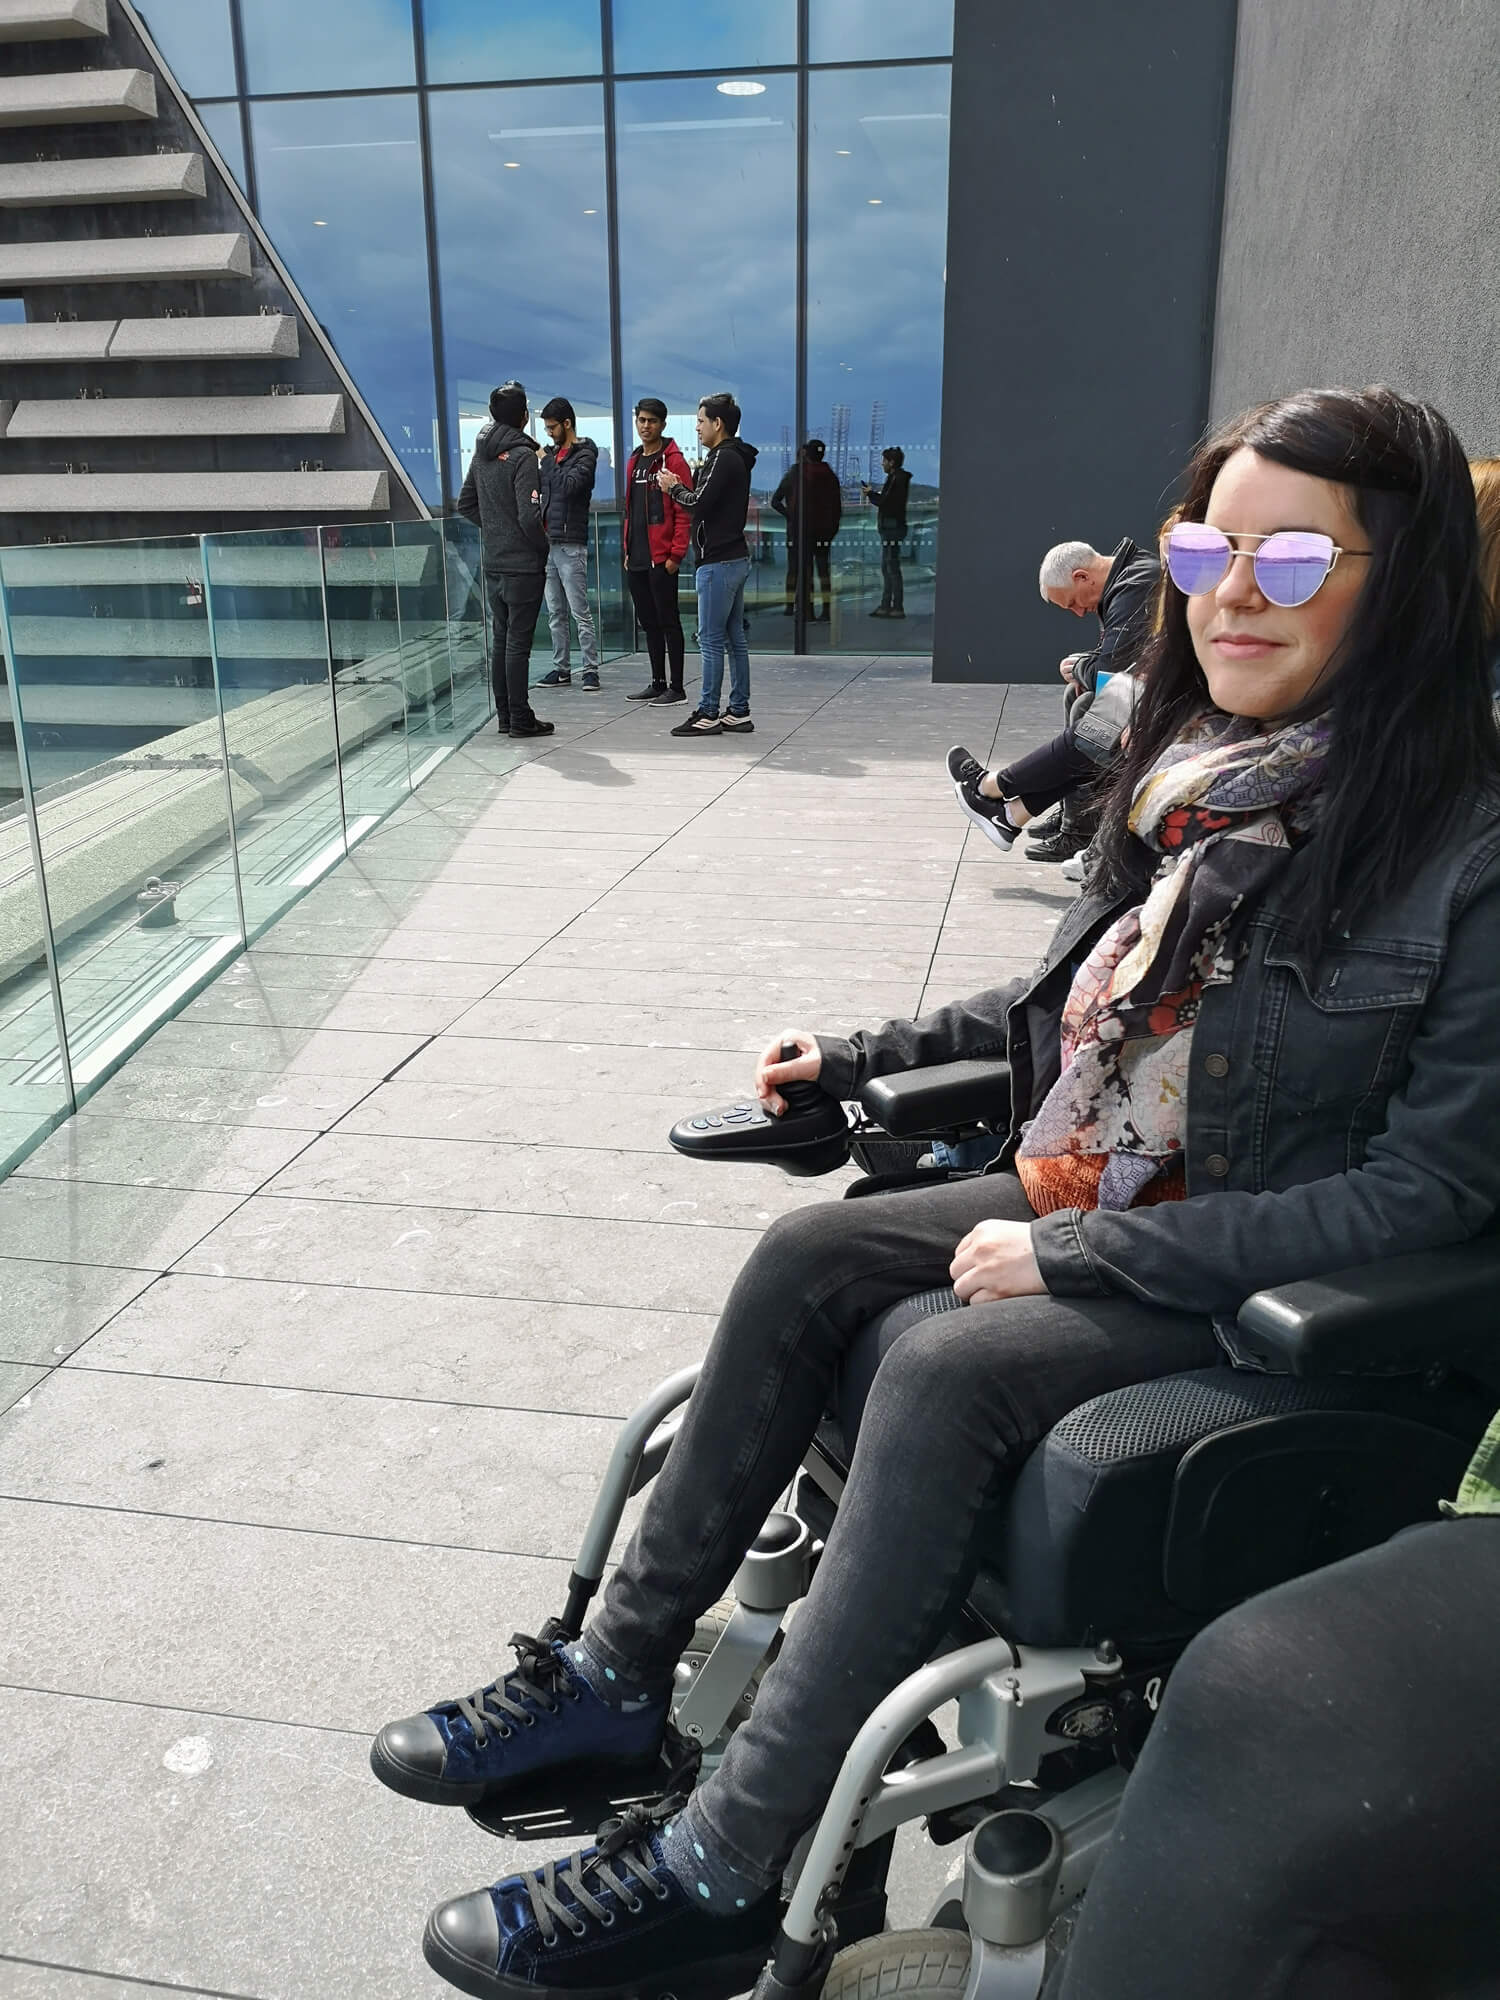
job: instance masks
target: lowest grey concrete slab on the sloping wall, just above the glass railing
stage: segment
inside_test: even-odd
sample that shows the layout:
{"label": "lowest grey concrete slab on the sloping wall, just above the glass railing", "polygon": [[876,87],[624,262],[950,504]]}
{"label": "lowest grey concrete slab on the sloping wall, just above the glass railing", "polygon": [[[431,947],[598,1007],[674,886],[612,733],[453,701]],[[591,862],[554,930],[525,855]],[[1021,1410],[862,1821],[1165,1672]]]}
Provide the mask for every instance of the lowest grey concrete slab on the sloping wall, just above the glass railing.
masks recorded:
{"label": "lowest grey concrete slab on the sloping wall, just above the glass railing", "polygon": [[386,472],[10,472],[0,514],[370,514]]}

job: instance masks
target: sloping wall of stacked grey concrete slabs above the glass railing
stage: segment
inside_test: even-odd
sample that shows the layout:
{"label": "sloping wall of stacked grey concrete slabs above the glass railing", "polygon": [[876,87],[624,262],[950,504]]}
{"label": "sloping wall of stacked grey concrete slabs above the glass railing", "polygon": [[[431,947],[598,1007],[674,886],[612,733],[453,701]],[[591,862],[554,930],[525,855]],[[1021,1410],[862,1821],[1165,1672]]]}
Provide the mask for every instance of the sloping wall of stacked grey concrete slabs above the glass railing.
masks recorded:
{"label": "sloping wall of stacked grey concrete slabs above the glass railing", "polygon": [[0,0],[0,546],[424,516],[130,0]]}

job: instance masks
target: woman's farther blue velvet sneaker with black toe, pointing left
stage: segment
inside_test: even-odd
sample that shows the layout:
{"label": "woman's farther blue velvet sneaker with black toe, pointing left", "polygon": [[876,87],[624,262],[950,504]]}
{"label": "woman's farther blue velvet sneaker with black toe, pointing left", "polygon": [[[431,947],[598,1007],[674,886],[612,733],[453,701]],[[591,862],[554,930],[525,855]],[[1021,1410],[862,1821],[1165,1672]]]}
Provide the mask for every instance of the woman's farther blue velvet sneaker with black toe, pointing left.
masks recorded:
{"label": "woman's farther blue velvet sneaker with black toe, pointing left", "polygon": [[654,1770],[670,1694],[610,1706],[560,1640],[518,1632],[510,1644],[516,1666],[488,1688],[380,1730],[370,1770],[382,1784],[426,1806],[478,1806],[542,1772]]}

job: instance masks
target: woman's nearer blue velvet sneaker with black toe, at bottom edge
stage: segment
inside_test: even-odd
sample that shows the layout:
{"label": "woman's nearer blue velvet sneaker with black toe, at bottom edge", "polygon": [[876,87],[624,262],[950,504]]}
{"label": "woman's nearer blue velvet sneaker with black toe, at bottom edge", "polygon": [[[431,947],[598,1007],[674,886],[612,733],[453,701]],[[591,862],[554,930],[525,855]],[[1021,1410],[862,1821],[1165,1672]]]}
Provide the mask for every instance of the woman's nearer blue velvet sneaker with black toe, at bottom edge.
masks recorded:
{"label": "woman's nearer blue velvet sneaker with black toe, at bottom edge", "polygon": [[422,1956],[476,2000],[730,2000],[774,1950],[782,1900],[768,1890],[716,1916],[662,1856],[680,1808],[632,1806],[598,1844],[440,1904]]}

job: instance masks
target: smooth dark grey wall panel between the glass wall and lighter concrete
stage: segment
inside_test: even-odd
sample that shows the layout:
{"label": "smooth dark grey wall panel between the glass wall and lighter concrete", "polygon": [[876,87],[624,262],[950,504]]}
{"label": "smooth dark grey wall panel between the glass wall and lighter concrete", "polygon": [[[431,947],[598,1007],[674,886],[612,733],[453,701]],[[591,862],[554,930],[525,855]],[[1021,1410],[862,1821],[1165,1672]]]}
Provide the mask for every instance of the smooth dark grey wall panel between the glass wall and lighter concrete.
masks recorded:
{"label": "smooth dark grey wall panel between the glass wall and lighter concrete", "polygon": [[938,680],[1056,682],[1098,626],[1042,602],[1044,550],[1150,540],[1170,506],[1208,416],[1232,56],[1234,0],[958,0]]}

